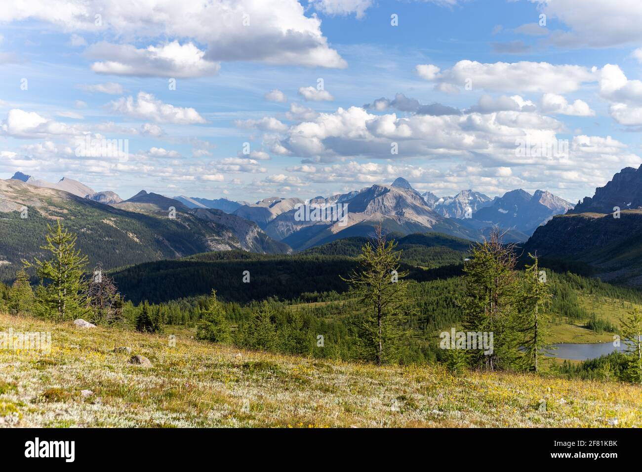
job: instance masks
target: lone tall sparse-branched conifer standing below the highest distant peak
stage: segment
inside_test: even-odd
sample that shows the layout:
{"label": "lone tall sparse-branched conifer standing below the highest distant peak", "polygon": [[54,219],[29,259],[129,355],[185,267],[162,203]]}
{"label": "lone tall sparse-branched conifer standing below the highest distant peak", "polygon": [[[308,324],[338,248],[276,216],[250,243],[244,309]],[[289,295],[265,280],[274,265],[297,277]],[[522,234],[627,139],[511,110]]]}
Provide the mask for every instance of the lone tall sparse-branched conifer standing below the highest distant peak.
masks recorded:
{"label": "lone tall sparse-branched conifer standing below the highest distant peak", "polygon": [[401,341],[407,334],[403,324],[408,320],[410,300],[408,281],[403,277],[408,272],[399,270],[401,251],[396,247],[377,225],[374,239],[361,247],[360,267],[348,279],[342,277],[364,310],[354,323],[358,355],[377,365],[399,359]]}

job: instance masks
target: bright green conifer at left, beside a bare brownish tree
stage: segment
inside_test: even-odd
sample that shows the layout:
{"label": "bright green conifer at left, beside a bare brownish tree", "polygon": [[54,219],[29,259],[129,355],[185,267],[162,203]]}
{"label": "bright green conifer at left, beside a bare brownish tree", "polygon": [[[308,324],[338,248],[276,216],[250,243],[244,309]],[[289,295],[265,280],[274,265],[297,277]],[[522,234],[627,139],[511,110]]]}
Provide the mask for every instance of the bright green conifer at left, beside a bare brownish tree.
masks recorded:
{"label": "bright green conifer at left, beside a bare brownish tree", "polygon": [[40,286],[36,290],[35,306],[42,317],[64,321],[83,317],[89,313],[85,292],[87,281],[84,268],[87,256],[76,249],[76,235],[60,223],[47,225],[47,244],[40,249],[51,252],[51,259],[35,263],[23,261],[26,267],[36,267]]}

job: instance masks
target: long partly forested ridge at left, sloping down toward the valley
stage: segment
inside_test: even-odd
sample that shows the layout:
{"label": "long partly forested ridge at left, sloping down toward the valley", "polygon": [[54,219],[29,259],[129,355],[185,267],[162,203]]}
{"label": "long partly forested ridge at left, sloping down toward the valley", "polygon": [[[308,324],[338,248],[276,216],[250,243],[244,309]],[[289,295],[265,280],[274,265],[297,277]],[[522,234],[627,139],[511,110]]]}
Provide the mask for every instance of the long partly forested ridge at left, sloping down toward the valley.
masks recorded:
{"label": "long partly forested ridge at left, sloping down toward the valley", "polygon": [[[166,204],[175,207],[173,218]],[[56,220],[64,220],[79,235],[78,247],[89,256],[91,267],[100,262],[108,269],[212,250],[291,252],[254,222],[216,209],[189,209],[155,193],[141,191],[107,205],[8,179],[0,180],[0,279],[12,279],[22,259],[44,256],[40,246],[47,225]]]}

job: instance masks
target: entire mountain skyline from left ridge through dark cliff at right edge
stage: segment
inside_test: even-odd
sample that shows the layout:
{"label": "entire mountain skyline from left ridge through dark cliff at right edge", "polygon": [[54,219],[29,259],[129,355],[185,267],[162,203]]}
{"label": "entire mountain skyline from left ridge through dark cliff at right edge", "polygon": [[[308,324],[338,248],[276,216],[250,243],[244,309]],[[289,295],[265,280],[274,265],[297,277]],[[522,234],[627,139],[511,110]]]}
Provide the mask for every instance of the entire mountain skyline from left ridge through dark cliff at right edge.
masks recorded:
{"label": "entire mountain skyline from left ridge through dark cliff at right edge", "polygon": [[[28,217],[21,218],[25,208]],[[308,213],[302,211],[306,208]],[[333,220],[314,218],[313,208],[346,211]],[[491,199],[467,189],[455,197],[436,197],[401,177],[390,185],[310,200],[270,197],[248,203],[169,198],[144,190],[122,200],[66,177],[50,184],[17,172],[0,180],[1,280],[12,279],[22,259],[44,256],[46,227],[56,220],[79,235],[78,247],[91,267],[98,262],[107,269],[121,267],[119,274],[129,281],[137,280],[139,271],[148,277],[155,268],[166,270],[162,261],[167,259],[200,261],[216,257],[212,254],[225,257],[222,251],[230,250],[352,257],[381,224],[403,243],[404,260],[428,270],[455,267],[470,241],[483,240],[499,227],[506,242],[520,243],[524,258],[537,254],[542,267],[642,286],[642,166],[616,173],[575,208],[544,190],[516,189]],[[277,261],[262,260],[254,264]],[[192,263],[176,270],[189,271]],[[124,265],[132,266],[123,272]]]}

